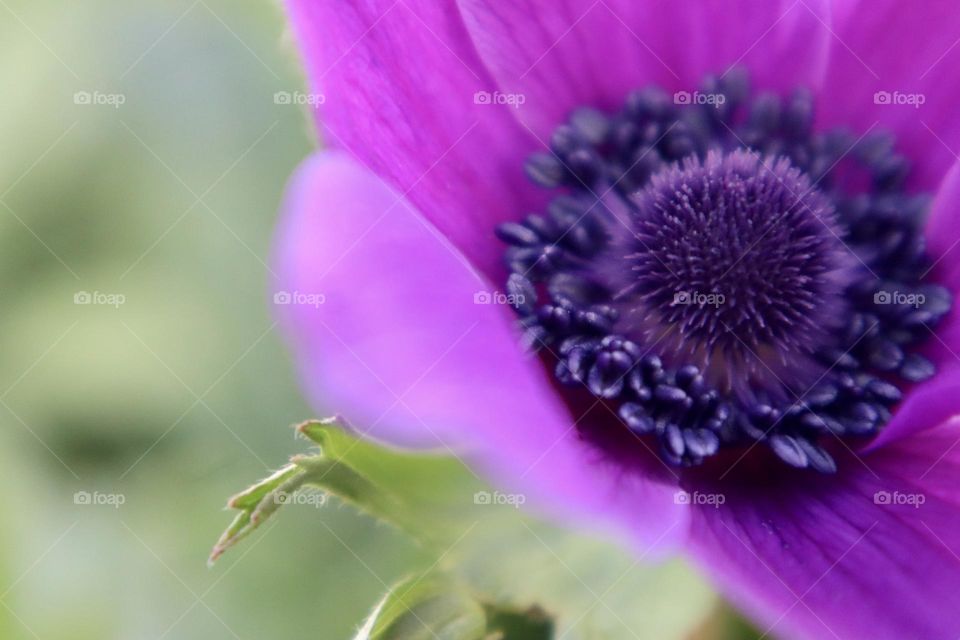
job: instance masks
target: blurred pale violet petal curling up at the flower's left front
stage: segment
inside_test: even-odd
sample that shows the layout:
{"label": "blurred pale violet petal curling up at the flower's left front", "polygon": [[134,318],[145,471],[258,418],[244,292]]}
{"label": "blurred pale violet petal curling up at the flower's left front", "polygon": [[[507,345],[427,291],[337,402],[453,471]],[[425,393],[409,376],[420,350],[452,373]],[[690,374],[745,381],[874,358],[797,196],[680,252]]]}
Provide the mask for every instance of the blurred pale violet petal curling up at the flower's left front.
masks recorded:
{"label": "blurred pale violet petal curling up at the flower's left front", "polygon": [[579,440],[509,308],[477,304],[487,282],[348,156],[321,153],[300,168],[274,255],[275,310],[321,413],[465,455],[527,504],[641,547],[685,532],[674,490]]}

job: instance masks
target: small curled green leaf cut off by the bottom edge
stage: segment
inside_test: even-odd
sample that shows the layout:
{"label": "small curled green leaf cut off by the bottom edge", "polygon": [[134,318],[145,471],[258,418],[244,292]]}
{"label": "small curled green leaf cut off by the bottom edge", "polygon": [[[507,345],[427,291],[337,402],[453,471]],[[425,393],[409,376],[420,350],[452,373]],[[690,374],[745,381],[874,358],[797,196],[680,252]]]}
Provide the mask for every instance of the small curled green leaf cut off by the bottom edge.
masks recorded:
{"label": "small curled green leaf cut off by the bottom edge", "polygon": [[549,640],[553,625],[539,609],[484,603],[463,583],[410,577],[376,606],[354,640]]}

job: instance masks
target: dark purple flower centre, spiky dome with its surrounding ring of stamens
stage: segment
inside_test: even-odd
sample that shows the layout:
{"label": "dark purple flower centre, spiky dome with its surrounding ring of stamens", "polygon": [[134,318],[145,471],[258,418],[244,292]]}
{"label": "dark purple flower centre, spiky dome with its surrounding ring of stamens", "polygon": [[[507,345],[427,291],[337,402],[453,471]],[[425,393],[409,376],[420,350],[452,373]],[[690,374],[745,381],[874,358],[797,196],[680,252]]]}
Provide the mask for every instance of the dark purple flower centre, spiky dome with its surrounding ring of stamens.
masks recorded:
{"label": "dark purple flower centre, spiky dome with its surrounding ring of stamens", "polygon": [[737,72],[578,110],[527,163],[547,215],[497,229],[526,342],[673,464],[762,442],[832,472],[831,440],[934,373],[926,199],[888,138],[812,123],[804,92],[751,98]]}

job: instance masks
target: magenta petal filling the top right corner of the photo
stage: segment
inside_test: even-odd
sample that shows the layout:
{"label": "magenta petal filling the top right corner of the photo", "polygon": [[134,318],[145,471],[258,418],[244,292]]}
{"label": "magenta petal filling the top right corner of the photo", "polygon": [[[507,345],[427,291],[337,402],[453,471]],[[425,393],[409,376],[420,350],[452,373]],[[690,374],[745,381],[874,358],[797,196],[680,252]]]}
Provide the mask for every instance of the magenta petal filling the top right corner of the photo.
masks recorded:
{"label": "magenta petal filling the top right corner of the photo", "polygon": [[914,185],[936,188],[960,153],[956,2],[835,4],[837,44],[818,105],[821,121],[858,134],[892,131],[913,163]]}

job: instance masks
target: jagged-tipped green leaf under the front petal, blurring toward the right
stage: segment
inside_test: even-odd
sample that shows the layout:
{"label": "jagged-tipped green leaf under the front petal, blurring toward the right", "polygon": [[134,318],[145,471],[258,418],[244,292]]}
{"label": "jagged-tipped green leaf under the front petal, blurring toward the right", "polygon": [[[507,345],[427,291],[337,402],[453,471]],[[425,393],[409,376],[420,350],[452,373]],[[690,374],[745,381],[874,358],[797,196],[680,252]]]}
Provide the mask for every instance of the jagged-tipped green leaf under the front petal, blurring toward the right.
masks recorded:
{"label": "jagged-tipped green leaf under the front petal, blurring toward the right", "polygon": [[[436,554],[438,567],[455,572],[469,589],[497,594],[496,606],[482,604],[487,618],[499,616],[504,627],[535,617],[516,609],[519,617],[510,618],[511,609],[500,603],[537,603],[553,614],[551,626],[566,640],[677,639],[694,633],[718,604],[683,562],[654,566],[608,541],[544,523],[516,508],[521,501],[512,498],[523,496],[492,491],[451,456],[383,447],[336,420],[306,422],[298,432],[319,452],[294,457],[234,497],[230,506],[240,514],[214,557],[274,513],[283,502],[276,495],[316,486],[412,534]],[[466,607],[462,592],[447,595]]]}

